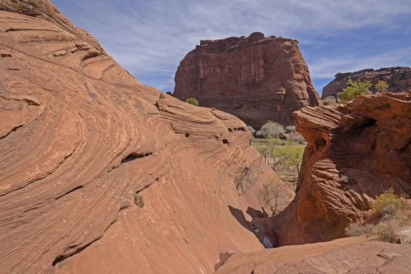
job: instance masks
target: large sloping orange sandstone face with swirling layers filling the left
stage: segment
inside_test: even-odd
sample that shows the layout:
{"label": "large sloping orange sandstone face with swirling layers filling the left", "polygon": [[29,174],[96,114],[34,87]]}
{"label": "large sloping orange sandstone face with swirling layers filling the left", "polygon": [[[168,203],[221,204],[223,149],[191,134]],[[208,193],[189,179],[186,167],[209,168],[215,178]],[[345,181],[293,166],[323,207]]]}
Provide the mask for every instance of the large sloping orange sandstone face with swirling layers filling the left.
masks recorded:
{"label": "large sloping orange sandstone face with swirling layers filling the left", "polygon": [[242,121],[159,99],[47,0],[0,0],[0,57],[1,273],[213,273],[264,248],[242,212],[276,175]]}

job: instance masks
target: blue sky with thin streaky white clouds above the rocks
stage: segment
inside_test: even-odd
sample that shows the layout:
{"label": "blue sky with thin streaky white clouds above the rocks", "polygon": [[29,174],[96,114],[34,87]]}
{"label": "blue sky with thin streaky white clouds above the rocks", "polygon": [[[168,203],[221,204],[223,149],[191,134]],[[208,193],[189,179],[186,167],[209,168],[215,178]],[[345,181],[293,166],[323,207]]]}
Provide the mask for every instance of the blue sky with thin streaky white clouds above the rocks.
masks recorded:
{"label": "blue sky with thin streaky white clouds above the rocks", "polygon": [[51,0],[140,82],[173,90],[199,40],[299,40],[314,87],[338,72],[411,66],[411,0]]}

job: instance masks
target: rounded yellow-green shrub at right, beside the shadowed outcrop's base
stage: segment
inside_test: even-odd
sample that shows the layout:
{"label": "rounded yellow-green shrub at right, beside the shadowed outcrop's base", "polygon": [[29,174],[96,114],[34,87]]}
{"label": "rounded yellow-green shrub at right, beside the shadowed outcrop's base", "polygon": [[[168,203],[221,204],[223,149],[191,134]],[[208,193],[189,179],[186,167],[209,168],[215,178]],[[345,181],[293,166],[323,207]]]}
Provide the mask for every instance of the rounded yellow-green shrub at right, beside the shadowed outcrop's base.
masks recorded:
{"label": "rounded yellow-green shrub at right, beside the shadowed outcrop's base", "polygon": [[399,211],[407,209],[407,199],[408,195],[397,195],[394,189],[390,188],[375,198],[375,202],[371,203],[371,209],[375,214],[387,219],[399,213]]}

